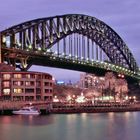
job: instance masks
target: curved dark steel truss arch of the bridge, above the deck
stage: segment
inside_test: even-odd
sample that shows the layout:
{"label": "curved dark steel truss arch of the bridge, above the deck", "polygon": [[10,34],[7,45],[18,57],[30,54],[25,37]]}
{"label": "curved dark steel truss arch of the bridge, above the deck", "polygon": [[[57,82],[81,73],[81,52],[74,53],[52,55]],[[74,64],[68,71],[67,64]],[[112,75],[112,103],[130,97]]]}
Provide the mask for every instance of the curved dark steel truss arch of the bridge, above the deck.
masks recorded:
{"label": "curved dark steel truss arch of the bridge, above the deck", "polygon": [[[10,38],[10,49],[47,51],[64,37],[79,33],[87,36],[106,53],[112,63],[138,71],[138,65],[121,37],[104,22],[87,15],[69,14],[35,19],[1,32]],[[7,48],[2,42],[2,48]],[[26,59],[26,58],[25,58]]]}

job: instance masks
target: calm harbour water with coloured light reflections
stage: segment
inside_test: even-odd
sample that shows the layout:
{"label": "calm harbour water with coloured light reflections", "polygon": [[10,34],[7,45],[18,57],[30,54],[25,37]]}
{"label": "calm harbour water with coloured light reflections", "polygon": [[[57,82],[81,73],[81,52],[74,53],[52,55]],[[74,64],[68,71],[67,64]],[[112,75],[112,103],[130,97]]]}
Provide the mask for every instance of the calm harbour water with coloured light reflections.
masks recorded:
{"label": "calm harbour water with coloured light reflections", "polygon": [[139,140],[140,112],[0,116],[0,140]]}

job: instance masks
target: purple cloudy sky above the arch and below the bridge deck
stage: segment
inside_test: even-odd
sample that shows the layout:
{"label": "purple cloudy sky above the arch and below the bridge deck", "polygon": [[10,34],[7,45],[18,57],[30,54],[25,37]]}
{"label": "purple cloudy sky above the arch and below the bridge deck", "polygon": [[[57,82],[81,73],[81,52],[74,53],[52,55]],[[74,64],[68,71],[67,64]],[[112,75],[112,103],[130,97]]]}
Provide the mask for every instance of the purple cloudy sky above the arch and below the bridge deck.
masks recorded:
{"label": "purple cloudy sky above the arch and below the bridge deck", "polygon": [[[0,3],[0,30],[36,18],[72,13],[90,15],[111,26],[140,64],[139,0],[3,0]],[[30,70],[51,73],[58,80],[79,80],[79,72],[75,71],[38,66]]]}

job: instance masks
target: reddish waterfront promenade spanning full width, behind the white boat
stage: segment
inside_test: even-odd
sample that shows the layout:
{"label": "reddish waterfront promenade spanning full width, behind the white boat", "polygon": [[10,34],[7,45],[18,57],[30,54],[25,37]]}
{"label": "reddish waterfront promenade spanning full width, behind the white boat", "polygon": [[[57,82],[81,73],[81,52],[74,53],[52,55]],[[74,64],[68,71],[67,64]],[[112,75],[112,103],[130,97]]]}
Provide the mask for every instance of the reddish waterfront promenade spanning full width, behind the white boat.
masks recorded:
{"label": "reddish waterfront promenade spanning full width, behind the white boat", "polygon": [[[11,114],[12,110],[34,105],[42,114],[47,113],[104,113],[140,111],[140,103],[51,103],[48,101],[0,101],[0,114]],[[5,113],[6,112],[6,113]],[[8,113],[7,113],[8,112]]]}

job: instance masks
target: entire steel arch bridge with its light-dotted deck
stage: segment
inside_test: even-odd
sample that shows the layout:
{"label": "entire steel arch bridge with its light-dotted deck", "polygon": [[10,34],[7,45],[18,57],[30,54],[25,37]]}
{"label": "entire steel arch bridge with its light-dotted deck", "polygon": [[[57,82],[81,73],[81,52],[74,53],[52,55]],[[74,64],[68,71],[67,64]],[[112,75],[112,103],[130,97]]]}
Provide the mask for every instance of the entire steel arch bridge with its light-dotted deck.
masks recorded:
{"label": "entire steel arch bridge with its light-dotted deck", "polygon": [[21,70],[32,65],[92,73],[111,70],[140,79],[136,60],[124,41],[95,17],[40,18],[12,26],[0,36],[1,62]]}

